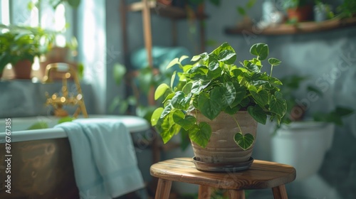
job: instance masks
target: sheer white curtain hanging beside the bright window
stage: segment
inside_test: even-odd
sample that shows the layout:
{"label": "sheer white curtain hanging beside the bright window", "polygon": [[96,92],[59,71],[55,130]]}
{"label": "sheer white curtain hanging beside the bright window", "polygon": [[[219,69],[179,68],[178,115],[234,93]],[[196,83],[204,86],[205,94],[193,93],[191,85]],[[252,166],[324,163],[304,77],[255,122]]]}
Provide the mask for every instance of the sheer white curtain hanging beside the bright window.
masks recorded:
{"label": "sheer white curtain hanging beside the bright window", "polygon": [[84,80],[93,87],[95,112],[106,107],[105,0],[81,1],[78,8],[78,59],[84,65]]}

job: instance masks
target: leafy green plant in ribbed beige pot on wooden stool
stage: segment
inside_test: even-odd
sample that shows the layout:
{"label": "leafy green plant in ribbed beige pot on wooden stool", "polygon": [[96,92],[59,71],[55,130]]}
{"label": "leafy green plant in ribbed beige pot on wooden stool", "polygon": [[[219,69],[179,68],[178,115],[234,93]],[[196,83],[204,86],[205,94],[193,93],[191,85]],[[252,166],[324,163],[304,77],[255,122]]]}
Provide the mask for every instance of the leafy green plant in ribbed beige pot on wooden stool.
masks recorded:
{"label": "leafy green plant in ribbed beige pot on wooden stool", "polygon": [[[235,50],[223,43],[211,53],[192,58],[175,58],[167,68],[179,65],[171,84],[157,87],[155,99],[163,98],[164,107],[155,110],[152,126],[164,143],[179,131],[192,141],[197,168],[219,171],[233,165],[248,168],[256,137],[257,122],[281,121],[286,113],[286,100],[279,92],[281,81],[272,77],[273,66],[280,60],[269,58],[271,74],[261,72],[262,61],[268,57],[268,45],[257,43],[250,49],[256,58],[235,65]],[[176,74],[179,82],[174,85]],[[213,164],[209,168],[204,163]],[[216,164],[220,164],[217,166]]]}

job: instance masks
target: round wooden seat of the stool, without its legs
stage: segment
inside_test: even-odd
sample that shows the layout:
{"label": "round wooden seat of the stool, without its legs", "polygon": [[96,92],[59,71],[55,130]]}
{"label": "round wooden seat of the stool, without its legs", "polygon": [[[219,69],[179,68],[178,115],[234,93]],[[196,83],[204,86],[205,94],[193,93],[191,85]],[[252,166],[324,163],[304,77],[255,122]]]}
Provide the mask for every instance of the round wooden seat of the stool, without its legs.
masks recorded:
{"label": "round wooden seat of the stool, without its legs", "polygon": [[259,160],[244,171],[204,172],[195,168],[192,158],[173,158],[153,164],[150,173],[168,181],[230,190],[274,188],[295,180],[293,166]]}

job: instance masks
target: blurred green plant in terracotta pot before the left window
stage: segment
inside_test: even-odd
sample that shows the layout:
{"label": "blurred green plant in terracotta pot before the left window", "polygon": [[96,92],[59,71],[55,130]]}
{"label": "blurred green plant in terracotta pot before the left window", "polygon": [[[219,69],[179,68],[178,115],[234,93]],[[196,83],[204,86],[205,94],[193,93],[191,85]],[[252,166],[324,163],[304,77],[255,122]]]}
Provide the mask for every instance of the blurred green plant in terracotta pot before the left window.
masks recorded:
{"label": "blurred green plant in terracotta pot before the left window", "polygon": [[41,28],[26,26],[0,26],[1,57],[0,68],[11,63],[17,79],[30,79],[33,58],[48,51],[53,38],[50,32]]}

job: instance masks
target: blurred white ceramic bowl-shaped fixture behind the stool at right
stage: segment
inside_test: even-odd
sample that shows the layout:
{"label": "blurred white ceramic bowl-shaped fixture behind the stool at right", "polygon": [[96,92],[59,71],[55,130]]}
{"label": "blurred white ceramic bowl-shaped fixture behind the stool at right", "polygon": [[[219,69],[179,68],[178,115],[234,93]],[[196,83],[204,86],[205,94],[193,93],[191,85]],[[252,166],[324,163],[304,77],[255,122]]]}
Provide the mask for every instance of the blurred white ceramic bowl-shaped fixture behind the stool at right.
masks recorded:
{"label": "blurred white ceramic bowl-shaped fixture behind the stool at right", "polygon": [[272,160],[295,167],[296,180],[318,172],[325,152],[333,143],[334,125],[321,122],[293,122],[276,132],[271,140]]}

